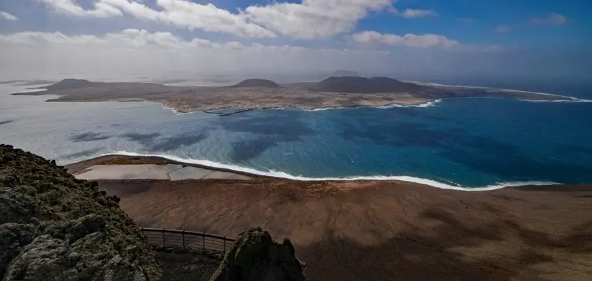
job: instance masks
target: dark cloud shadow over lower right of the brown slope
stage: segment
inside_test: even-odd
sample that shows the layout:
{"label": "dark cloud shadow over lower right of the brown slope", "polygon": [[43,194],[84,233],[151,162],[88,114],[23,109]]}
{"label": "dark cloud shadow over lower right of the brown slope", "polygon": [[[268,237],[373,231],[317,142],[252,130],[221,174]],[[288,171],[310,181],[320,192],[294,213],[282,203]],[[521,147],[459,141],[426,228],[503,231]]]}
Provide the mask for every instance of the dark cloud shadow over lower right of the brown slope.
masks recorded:
{"label": "dark cloud shadow over lower right of the brown slope", "polygon": [[[525,266],[554,261],[553,257],[538,250],[540,247],[560,248],[566,252],[592,252],[590,245],[586,248],[585,244],[586,237],[592,236],[592,221],[573,229],[572,234],[563,239],[555,240],[548,234],[526,229],[511,220],[472,228],[440,209],[429,209],[422,216],[426,220],[439,221],[439,226],[430,230],[403,232],[377,246],[361,246],[355,241],[329,238],[297,247],[296,252],[309,264],[306,268],[309,280],[375,281],[511,280]],[[522,243],[501,241],[497,234],[506,231],[515,233]],[[483,247],[485,243],[488,243],[488,248]],[[491,245],[496,243],[495,249],[501,250],[491,252]],[[489,250],[487,255],[481,252],[481,257],[472,257],[458,250],[480,247],[483,247],[481,251]],[[518,247],[513,249],[520,249],[520,254],[505,256],[503,249],[506,247]],[[550,269],[561,272],[565,268]],[[529,276],[539,273],[529,270]]]}

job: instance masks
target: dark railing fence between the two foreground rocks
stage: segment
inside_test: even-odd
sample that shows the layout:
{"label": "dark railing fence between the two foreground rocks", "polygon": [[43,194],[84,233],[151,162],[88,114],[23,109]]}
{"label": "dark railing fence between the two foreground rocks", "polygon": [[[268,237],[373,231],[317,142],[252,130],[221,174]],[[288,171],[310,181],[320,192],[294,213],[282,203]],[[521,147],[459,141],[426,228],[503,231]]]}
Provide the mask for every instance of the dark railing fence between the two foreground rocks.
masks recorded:
{"label": "dark railing fence between the two foreground rocks", "polygon": [[226,252],[232,248],[235,239],[205,232],[189,230],[168,230],[165,228],[141,227],[148,242],[157,246],[182,246],[194,249]]}

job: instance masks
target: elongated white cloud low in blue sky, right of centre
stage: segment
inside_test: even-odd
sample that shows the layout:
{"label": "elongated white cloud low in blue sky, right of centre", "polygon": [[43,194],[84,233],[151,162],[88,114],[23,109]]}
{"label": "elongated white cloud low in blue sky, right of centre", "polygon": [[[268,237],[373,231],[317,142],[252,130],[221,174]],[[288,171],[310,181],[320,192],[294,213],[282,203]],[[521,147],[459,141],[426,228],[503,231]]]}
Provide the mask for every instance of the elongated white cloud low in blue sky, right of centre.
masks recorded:
{"label": "elongated white cloud low in blue sky, right of centre", "polygon": [[371,45],[404,46],[414,48],[449,48],[460,45],[456,40],[446,38],[444,35],[436,34],[382,34],[376,31],[363,31],[352,35],[356,42]]}

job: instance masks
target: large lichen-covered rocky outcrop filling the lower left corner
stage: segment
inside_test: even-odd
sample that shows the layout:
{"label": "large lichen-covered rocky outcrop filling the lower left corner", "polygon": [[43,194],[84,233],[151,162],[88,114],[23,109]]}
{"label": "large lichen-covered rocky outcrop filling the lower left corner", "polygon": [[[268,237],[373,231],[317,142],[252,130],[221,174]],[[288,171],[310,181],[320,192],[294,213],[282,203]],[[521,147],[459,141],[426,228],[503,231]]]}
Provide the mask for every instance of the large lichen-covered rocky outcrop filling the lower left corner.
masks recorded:
{"label": "large lichen-covered rocky outcrop filling the lower left corner", "polygon": [[0,145],[2,280],[159,280],[118,198],[40,156]]}

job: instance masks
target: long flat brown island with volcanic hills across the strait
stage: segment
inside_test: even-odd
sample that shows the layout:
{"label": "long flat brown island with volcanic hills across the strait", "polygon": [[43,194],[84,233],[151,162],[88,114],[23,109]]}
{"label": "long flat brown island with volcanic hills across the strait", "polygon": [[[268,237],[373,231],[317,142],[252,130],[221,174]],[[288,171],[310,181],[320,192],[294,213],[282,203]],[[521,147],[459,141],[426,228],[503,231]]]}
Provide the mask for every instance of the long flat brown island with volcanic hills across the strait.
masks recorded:
{"label": "long flat brown island with volcanic hills across the strait", "polygon": [[495,88],[427,86],[389,77],[334,76],[318,82],[278,84],[247,79],[231,86],[167,86],[158,83],[93,82],[63,79],[45,91],[13,95],[57,95],[47,102],[149,101],[180,112],[235,109],[327,109],[357,106],[421,105],[455,97],[497,97],[533,101],[574,98]]}

